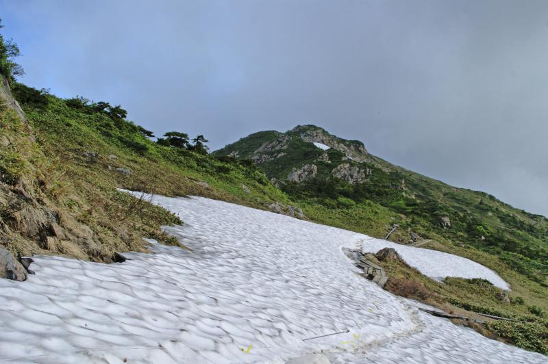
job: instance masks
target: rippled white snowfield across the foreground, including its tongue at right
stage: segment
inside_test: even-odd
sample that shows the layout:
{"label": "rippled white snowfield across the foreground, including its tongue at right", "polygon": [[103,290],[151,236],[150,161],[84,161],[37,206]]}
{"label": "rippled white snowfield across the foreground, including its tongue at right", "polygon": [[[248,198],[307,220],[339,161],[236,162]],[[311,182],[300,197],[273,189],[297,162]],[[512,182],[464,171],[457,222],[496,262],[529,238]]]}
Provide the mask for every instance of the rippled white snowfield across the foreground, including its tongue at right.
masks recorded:
{"label": "rippled white snowfield across the foreground, including its tongue at right", "polygon": [[[181,216],[185,226],[167,229],[193,252],[151,240],[153,254],[125,263],[35,257],[26,282],[0,280],[0,361],[284,363],[321,350],[332,363],[547,360],[422,313],[355,274],[342,251],[388,242],[206,198],[155,203]],[[494,278],[397,248],[427,274]]]}

